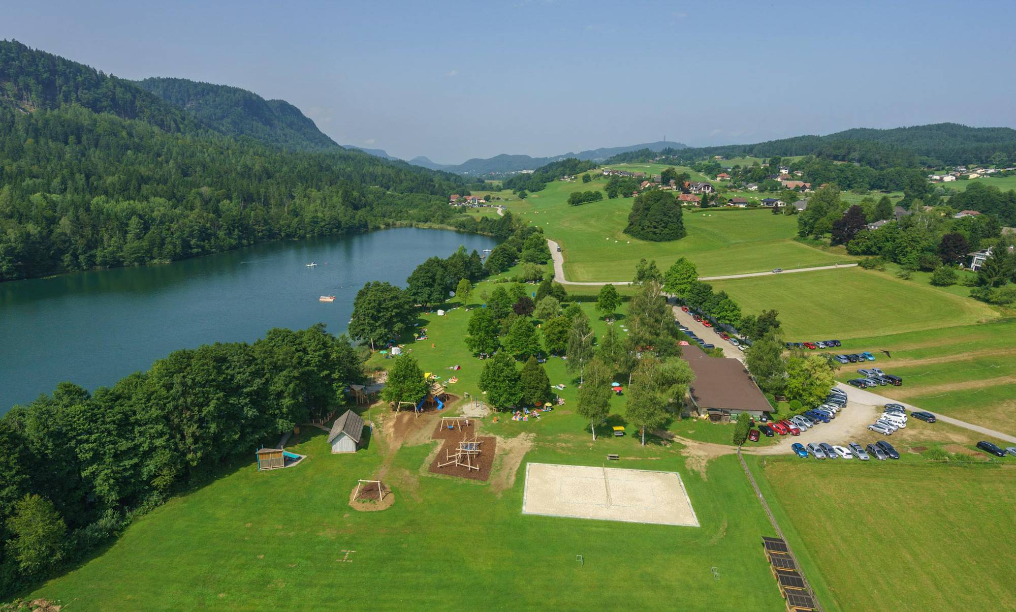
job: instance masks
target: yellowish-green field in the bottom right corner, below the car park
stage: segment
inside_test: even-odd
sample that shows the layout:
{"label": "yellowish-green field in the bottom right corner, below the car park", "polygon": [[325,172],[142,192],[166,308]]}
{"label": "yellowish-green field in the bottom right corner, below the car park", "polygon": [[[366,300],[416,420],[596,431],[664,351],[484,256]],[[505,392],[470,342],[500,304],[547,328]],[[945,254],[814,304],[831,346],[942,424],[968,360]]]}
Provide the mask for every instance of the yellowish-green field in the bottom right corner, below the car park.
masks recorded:
{"label": "yellowish-green field in the bottom right corner, below the car park", "polygon": [[1016,465],[749,461],[826,610],[1016,601]]}

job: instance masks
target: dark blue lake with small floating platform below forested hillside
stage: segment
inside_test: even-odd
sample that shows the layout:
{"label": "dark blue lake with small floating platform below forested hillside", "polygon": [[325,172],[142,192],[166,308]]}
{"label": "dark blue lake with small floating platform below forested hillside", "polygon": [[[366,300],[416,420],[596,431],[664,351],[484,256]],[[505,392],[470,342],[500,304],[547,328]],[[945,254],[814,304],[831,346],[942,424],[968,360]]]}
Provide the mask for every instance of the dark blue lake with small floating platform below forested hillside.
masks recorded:
{"label": "dark blue lake with small floating platform below forested hillside", "polygon": [[[88,390],[147,369],[178,349],[253,342],[317,322],[345,331],[369,281],[400,287],[427,257],[487,236],[396,228],[261,244],[168,265],[0,283],[0,414],[69,380]],[[309,262],[316,267],[307,267]],[[335,296],[331,303],[319,302]]]}

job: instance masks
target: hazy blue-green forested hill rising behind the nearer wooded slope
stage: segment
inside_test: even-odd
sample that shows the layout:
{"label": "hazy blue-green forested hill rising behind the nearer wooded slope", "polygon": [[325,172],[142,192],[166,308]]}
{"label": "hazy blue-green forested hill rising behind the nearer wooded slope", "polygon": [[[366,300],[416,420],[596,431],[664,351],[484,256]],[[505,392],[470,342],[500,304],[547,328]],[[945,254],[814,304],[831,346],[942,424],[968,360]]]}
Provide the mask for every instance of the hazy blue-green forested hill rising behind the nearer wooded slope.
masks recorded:
{"label": "hazy blue-green forested hill rising behind the nearer wooded slope", "polygon": [[338,148],[300,109],[284,100],[265,100],[239,87],[186,78],[152,77],[137,84],[228,136],[250,136],[298,150]]}

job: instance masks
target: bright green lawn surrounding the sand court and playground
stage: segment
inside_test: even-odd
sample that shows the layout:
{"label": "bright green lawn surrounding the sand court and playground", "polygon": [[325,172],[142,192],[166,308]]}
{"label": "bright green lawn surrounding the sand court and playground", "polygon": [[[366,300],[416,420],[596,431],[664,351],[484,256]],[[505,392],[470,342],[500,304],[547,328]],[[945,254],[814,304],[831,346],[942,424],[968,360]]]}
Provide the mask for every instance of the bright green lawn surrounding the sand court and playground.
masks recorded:
{"label": "bright green lawn surrounding the sand court and playground", "polygon": [[[448,385],[457,394],[477,390],[483,365],[462,342],[467,315],[425,315],[428,340],[406,345],[443,382],[458,376]],[[565,406],[538,421],[484,420],[500,449],[489,482],[431,474],[435,415],[421,418],[430,419],[424,435],[398,439],[386,427],[390,409],[378,406],[365,415],[376,427],[356,454],[331,454],[324,431],[303,427],[288,445],[307,454],[301,465],[259,473],[253,453],[242,457],[26,595],[80,610],[783,609],[758,546],[771,528],[737,458],[689,466],[680,444],[639,446],[631,427],[593,442],[574,414],[574,377],[561,359],[547,370],[567,385]],[[609,425],[625,424],[623,400],[612,397]],[[679,472],[701,527],[521,514],[526,462],[600,466],[607,453],[622,457],[612,467]],[[357,480],[378,476],[394,505],[353,509]]]}

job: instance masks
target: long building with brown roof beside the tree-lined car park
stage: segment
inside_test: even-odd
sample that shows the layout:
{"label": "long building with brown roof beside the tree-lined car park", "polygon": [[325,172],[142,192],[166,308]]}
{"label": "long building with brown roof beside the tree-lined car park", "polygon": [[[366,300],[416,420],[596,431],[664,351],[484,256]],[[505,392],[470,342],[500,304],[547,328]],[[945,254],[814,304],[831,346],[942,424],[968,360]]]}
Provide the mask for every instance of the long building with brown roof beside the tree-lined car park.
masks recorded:
{"label": "long building with brown roof beside the tree-lined car park", "polygon": [[688,388],[691,409],[712,421],[728,421],[731,415],[762,416],[772,407],[737,359],[709,357],[696,346],[681,347],[681,358],[695,372]]}

